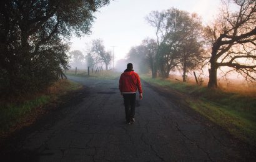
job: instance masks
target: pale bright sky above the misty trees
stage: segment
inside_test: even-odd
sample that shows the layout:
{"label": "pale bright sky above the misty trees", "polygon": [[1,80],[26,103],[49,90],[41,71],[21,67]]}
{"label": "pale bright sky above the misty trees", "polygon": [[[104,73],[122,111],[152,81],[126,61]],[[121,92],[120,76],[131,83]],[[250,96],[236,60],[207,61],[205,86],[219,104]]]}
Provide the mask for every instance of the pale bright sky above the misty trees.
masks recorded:
{"label": "pale bright sky above the misty trees", "polygon": [[[188,12],[196,12],[202,17],[203,24],[214,19],[220,0],[116,0],[99,9],[91,34],[81,38],[72,37],[71,49],[81,50],[86,55],[92,39],[102,39],[106,50],[113,52],[114,63],[126,59],[132,46],[141,44],[150,37],[155,39],[155,29],[145,17],[151,11],[163,11],[175,7]],[[115,46],[114,48],[112,46]],[[111,64],[112,65],[112,64]]]}

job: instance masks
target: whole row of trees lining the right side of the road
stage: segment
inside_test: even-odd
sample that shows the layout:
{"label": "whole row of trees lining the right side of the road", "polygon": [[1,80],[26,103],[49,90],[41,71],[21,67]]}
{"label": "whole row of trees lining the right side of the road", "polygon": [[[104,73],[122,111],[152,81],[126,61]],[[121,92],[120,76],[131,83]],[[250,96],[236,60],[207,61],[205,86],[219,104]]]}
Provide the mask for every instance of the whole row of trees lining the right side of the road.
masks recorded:
{"label": "whole row of trees lining the right side of the road", "polygon": [[181,70],[184,82],[187,72],[209,65],[209,88],[217,87],[220,67],[256,80],[256,1],[222,3],[217,19],[209,26],[202,26],[197,14],[175,8],[150,12],[146,20],[154,27],[156,39],[147,38],[132,47],[128,60],[141,72],[150,69],[152,78],[168,78],[170,71]]}

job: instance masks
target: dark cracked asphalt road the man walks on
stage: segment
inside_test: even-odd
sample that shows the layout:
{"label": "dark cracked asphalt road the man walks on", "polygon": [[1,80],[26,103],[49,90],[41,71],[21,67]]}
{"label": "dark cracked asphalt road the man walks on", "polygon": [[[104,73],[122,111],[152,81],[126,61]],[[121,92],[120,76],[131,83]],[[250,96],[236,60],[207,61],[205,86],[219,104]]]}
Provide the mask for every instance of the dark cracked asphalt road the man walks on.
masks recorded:
{"label": "dark cracked asphalt road the man walks on", "polygon": [[[84,84],[79,102],[30,128],[7,161],[250,161],[246,145],[142,82],[135,123],[127,125],[116,80],[69,76]],[[67,101],[69,102],[69,101]],[[61,115],[59,115],[61,114]],[[4,156],[2,156],[4,157]]]}

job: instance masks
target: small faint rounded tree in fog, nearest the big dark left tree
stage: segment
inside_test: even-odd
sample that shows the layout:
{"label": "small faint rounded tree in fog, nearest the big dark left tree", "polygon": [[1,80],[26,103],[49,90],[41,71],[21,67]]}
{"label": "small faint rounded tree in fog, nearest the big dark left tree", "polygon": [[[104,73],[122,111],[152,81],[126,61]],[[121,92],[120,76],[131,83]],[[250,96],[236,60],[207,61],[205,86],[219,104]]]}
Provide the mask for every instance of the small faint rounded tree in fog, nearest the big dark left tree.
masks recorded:
{"label": "small faint rounded tree in fog, nearest the big dark left tree", "polygon": [[72,62],[71,62],[72,67],[79,67],[79,68],[85,69],[85,65],[84,65],[85,57],[80,50],[72,50],[70,52],[70,56],[72,59]]}

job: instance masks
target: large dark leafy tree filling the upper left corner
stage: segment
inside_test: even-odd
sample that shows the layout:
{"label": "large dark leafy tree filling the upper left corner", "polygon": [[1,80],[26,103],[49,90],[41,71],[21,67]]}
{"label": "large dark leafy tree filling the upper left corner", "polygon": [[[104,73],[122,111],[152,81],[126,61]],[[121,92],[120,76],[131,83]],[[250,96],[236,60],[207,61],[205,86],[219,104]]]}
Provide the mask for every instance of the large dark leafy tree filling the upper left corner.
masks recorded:
{"label": "large dark leafy tree filling the upper left corner", "polygon": [[[88,34],[109,0],[3,0],[0,4],[1,92],[37,90],[67,67],[72,33]],[[0,80],[0,83],[2,80]]]}

